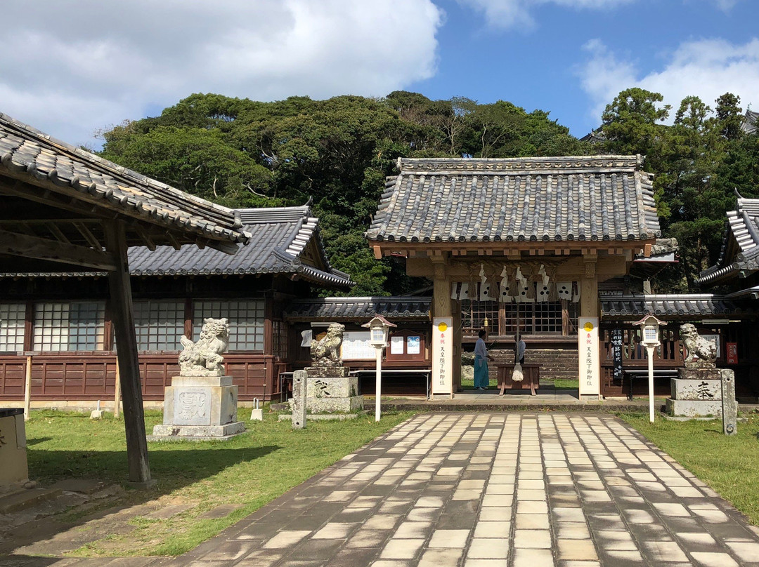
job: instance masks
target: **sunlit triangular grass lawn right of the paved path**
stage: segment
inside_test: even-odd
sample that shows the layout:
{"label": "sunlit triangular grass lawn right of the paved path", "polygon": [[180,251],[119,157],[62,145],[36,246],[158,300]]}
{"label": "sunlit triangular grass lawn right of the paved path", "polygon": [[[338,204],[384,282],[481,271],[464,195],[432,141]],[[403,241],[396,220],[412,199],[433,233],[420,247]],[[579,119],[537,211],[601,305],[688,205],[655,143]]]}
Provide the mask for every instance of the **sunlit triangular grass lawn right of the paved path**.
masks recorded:
{"label": "sunlit triangular grass lawn right of the paved path", "polygon": [[759,415],[739,421],[726,437],[722,420],[671,421],[648,415],[620,415],[759,525]]}

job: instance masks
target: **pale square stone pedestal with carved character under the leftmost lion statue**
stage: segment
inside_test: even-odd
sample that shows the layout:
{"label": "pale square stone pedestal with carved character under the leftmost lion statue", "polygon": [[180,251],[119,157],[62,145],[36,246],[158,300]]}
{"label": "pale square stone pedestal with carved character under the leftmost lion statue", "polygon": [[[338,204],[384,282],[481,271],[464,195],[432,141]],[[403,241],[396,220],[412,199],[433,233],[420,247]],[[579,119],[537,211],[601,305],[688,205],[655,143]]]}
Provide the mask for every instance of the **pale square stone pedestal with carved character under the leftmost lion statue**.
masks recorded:
{"label": "pale square stone pedestal with carved character under the leftmost lion statue", "polygon": [[237,421],[231,376],[175,376],[165,389],[163,424],[148,440],[224,440],[245,431]]}

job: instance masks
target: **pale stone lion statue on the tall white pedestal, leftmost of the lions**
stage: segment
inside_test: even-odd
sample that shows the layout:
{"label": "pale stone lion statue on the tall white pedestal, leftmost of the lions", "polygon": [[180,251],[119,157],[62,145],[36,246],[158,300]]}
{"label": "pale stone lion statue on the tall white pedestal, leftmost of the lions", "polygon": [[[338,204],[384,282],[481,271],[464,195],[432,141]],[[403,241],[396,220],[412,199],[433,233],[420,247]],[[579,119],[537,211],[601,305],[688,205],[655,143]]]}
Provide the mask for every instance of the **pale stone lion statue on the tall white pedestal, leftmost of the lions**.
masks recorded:
{"label": "pale stone lion statue on the tall white pedestal, leftmost of the lions", "polygon": [[203,319],[200,339],[193,343],[184,335],[184,350],[179,354],[181,376],[223,376],[224,357],[229,343],[229,324],[226,318]]}

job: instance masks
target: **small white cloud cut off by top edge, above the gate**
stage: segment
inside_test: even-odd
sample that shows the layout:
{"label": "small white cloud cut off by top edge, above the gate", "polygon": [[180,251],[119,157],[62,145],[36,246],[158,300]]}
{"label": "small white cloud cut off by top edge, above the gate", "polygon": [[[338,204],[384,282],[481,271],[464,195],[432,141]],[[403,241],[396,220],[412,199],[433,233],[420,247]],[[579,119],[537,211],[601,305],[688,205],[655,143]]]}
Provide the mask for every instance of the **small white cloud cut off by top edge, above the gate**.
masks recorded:
{"label": "small white cloud cut off by top edge, above the gate", "polygon": [[[731,0],[717,0],[731,2]],[[735,0],[732,0],[735,1]],[[611,9],[636,0],[458,0],[461,5],[483,12],[487,23],[493,27],[531,28],[535,21],[531,9],[540,5],[553,4],[572,9]]]}

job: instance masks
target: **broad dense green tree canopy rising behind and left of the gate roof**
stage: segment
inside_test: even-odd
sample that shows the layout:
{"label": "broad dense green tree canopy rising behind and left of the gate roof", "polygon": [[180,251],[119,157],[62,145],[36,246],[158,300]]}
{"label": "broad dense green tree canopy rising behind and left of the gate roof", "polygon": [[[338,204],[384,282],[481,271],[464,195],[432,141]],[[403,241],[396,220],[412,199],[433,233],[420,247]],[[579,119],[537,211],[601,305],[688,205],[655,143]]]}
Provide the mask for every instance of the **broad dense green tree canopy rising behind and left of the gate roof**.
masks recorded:
{"label": "broad dense green tree canopy rising behind and left of the gate roof", "polygon": [[398,260],[373,258],[363,236],[398,157],[587,152],[547,112],[406,91],[277,102],[197,93],[103,137],[104,157],[228,206],[312,198],[332,265],[351,274],[352,293],[361,295],[425,284],[406,277]]}

